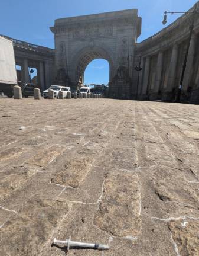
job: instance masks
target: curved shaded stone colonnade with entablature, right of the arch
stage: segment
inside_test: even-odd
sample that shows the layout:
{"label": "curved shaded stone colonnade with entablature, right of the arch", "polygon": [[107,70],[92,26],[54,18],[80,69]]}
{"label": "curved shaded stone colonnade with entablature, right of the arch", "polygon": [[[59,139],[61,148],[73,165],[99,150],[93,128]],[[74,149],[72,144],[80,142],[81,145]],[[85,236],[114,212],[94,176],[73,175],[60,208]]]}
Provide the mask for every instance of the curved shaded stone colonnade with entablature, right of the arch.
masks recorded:
{"label": "curved shaded stone colonnade with entablature, right of the arch", "polygon": [[[199,1],[197,7],[199,10]],[[191,15],[188,17],[190,21],[193,18]],[[182,15],[164,30],[136,44],[137,62],[139,55],[142,55],[139,99],[175,100],[181,87],[181,101],[199,103],[199,14],[195,18],[188,47],[189,36],[190,25],[187,16]],[[184,79],[180,85],[187,50]]]}

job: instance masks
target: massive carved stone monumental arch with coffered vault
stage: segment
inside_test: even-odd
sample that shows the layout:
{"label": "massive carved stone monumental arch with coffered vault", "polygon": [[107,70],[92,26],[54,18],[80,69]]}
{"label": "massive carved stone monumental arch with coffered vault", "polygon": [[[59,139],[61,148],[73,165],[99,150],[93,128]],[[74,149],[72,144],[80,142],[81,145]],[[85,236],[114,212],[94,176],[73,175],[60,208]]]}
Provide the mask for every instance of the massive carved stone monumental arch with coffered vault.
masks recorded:
{"label": "massive carved stone monumental arch with coffered vault", "polygon": [[84,83],[86,66],[105,59],[110,66],[109,97],[131,98],[135,43],[141,34],[138,10],[60,18],[50,29],[55,40],[55,82],[77,88]]}

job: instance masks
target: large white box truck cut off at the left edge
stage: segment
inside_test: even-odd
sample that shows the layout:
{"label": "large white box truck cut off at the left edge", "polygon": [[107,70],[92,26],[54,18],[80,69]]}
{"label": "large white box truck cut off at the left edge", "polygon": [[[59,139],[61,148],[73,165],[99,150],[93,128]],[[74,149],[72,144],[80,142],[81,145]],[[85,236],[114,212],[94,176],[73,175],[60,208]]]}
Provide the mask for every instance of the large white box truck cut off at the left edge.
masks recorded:
{"label": "large white box truck cut off at the left edge", "polygon": [[14,85],[17,85],[17,72],[13,44],[0,36],[0,92],[11,98]]}

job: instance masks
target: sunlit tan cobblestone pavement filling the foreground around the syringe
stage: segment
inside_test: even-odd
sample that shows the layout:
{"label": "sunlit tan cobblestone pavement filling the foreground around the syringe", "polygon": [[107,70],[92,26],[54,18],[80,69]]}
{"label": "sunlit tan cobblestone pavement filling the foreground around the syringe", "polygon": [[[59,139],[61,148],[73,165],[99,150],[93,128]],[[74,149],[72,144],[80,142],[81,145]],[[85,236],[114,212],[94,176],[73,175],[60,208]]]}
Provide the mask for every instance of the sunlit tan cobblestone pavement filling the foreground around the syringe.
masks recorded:
{"label": "sunlit tan cobblestone pavement filling the foreground around the syringe", "polygon": [[198,105],[2,98],[0,123],[0,255],[199,255]]}

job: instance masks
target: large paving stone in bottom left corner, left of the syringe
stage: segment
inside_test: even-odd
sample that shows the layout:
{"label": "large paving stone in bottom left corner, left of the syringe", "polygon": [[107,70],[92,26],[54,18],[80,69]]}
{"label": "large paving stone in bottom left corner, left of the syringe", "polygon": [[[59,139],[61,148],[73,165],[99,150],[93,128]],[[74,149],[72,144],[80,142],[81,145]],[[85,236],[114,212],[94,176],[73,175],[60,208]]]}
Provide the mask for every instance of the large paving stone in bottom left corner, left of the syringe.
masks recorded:
{"label": "large paving stone in bottom left corner, left of the syringe", "polygon": [[2,227],[2,255],[38,255],[48,236],[68,212],[61,201],[32,198]]}

